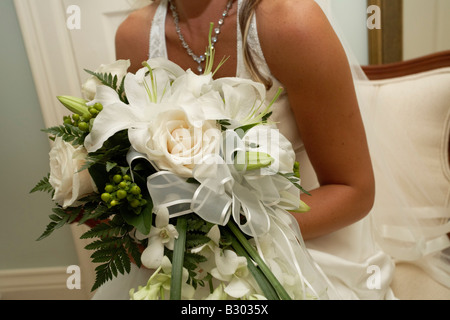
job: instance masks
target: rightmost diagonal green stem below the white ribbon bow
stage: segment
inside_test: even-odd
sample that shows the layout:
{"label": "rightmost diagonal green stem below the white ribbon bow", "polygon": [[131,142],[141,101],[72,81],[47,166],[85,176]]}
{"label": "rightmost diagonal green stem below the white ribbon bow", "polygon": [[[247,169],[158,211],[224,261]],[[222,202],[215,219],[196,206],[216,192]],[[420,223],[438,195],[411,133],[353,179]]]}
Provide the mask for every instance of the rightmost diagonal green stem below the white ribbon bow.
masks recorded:
{"label": "rightmost diagonal green stem below the white ribbon bow", "polygon": [[243,246],[243,248],[248,252],[250,257],[256,262],[256,264],[261,269],[262,273],[266,276],[267,280],[272,284],[273,288],[277,292],[278,296],[281,300],[291,300],[291,297],[286,292],[284,287],[272,273],[270,268],[264,262],[264,260],[259,256],[258,252],[250,245],[245,236],[242,234],[241,230],[232,222],[229,221],[227,226],[230,228],[231,232],[233,232],[234,236],[237,238],[239,243]]}

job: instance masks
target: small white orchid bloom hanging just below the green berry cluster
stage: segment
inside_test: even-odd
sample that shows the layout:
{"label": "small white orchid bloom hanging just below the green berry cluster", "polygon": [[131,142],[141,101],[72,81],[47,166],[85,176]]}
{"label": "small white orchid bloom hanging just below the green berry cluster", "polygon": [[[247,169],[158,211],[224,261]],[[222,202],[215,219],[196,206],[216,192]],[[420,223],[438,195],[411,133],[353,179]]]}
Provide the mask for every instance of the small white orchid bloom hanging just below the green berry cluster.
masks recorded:
{"label": "small white orchid bloom hanging just below the green berry cluster", "polygon": [[175,239],[178,238],[178,231],[175,226],[169,224],[169,211],[167,208],[158,208],[155,212],[155,226],[150,229],[148,235],[140,232],[136,233],[136,238],[144,240],[148,238],[148,246],[142,252],[142,264],[149,269],[156,269],[161,265],[164,257],[164,247],[173,250]]}

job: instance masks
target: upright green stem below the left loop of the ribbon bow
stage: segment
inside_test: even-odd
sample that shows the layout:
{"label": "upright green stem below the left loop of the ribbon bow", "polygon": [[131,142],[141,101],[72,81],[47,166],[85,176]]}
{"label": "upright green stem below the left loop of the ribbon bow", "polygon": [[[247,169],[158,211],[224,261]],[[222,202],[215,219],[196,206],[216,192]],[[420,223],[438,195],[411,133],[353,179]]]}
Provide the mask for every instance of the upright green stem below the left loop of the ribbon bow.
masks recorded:
{"label": "upright green stem below the left loop of the ribbon bow", "polygon": [[170,300],[181,300],[183,262],[186,245],[187,218],[182,216],[177,221],[178,238],[175,239],[172,258],[172,277],[170,282]]}

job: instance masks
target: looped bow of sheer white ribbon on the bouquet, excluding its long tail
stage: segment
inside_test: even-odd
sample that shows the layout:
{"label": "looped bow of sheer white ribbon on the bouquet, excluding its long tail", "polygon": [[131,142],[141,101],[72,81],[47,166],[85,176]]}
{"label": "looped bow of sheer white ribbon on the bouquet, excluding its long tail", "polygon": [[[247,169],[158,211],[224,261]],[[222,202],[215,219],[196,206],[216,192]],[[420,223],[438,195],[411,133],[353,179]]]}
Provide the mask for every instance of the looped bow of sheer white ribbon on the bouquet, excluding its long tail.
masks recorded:
{"label": "looped bow of sheer white ribbon on the bouquet, excluding its long tail", "polygon": [[[228,130],[224,133],[223,156],[208,154],[194,168],[193,177],[199,184],[187,182],[170,171],[152,174],[147,178],[147,188],[154,206],[168,208],[170,218],[195,212],[218,225],[226,225],[233,216],[244,233],[265,234],[270,228],[268,208],[295,210],[300,205],[300,194],[277,174],[245,172],[245,163],[240,163],[244,167],[238,171],[235,162],[241,160],[245,150],[238,134]],[[146,155],[130,149],[129,165],[136,159],[146,159],[158,170]]]}

